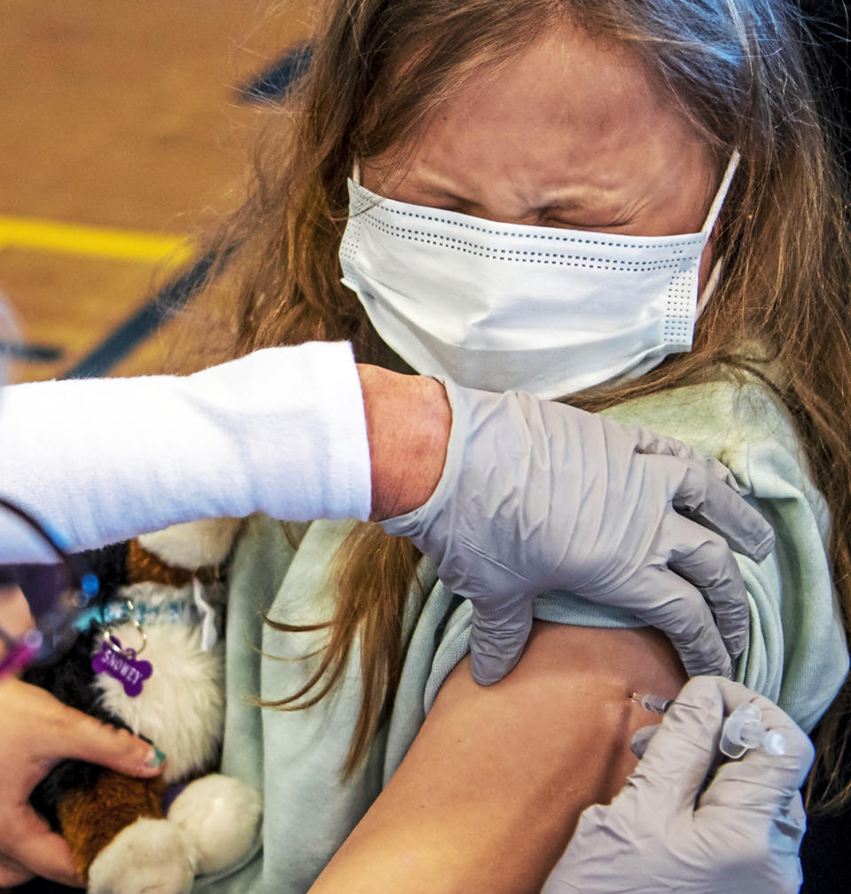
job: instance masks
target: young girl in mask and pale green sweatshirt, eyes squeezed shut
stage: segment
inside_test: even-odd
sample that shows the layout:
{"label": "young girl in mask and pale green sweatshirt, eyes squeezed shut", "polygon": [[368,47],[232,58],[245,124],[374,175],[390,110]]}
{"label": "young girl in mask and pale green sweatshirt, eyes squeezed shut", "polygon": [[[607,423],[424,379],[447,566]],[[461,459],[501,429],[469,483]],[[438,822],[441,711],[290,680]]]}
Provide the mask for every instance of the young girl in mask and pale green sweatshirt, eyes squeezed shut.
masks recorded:
{"label": "young girl in mask and pale green sweatshirt, eyes squeezed shut", "polygon": [[[234,354],[349,339],[719,457],[778,543],[740,561],[737,679],[810,730],[847,672],[851,268],[802,45],[767,0],[333,4],[213,294]],[[636,271],[702,229],[694,324],[696,288],[660,313]],[[518,670],[477,689],[468,606],[377,527],[255,519],[232,589],[223,766],[264,789],[265,835],[216,890],[307,890],[326,864],[316,890],[535,890],[632,765],[626,693],[684,679],[635,619],[543,595]]]}

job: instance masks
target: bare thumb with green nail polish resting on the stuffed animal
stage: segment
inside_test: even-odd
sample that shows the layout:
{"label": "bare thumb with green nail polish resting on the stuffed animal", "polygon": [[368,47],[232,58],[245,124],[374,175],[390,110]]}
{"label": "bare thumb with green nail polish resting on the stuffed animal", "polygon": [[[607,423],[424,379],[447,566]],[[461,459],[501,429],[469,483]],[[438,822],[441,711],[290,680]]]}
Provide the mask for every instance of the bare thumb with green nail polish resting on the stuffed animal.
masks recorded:
{"label": "bare thumb with green nail polish resting on the stuffed animal", "polygon": [[156,776],[161,772],[165,755],[156,746],[74,708],[67,710],[67,727],[63,741],[58,743],[62,757],[98,763],[128,776]]}

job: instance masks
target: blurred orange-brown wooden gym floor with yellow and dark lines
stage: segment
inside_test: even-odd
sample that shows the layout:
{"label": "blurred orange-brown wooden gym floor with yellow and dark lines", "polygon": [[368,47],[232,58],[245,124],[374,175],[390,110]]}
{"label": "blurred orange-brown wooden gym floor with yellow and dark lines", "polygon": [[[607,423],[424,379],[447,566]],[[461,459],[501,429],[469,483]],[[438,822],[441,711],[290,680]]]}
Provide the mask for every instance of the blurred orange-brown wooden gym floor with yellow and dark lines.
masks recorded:
{"label": "blurred orange-brown wooden gym floor with yellow and dark lines", "polygon": [[[59,352],[14,380],[74,367],[231,207],[258,117],[238,88],[309,35],[307,0],[271,5],[5,0],[0,292],[22,340]],[[154,337],[114,374],[161,360]]]}

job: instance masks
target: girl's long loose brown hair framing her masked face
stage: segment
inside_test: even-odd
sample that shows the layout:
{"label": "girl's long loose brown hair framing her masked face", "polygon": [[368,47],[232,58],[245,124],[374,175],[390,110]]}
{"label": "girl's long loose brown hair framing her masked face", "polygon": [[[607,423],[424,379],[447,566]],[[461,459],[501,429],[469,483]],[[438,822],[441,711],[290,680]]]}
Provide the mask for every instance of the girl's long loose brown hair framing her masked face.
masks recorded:
{"label": "girl's long loose brown hair framing her masked face", "polygon": [[[509,60],[565,21],[622,42],[707,140],[719,173],[734,148],[741,153],[716,230],[725,276],[690,354],[571,402],[597,410],[736,370],[762,376],[794,418],[830,504],[830,562],[849,628],[851,249],[796,14],[795,4],[771,0],[336,0],[316,29],[308,72],[273,110],[249,199],[218,237],[233,249],[209,289],[229,308],[223,353],[347,339],[360,361],[404,369],[340,283],[352,164],[404,145],[468,73]],[[375,526],[357,527],[343,552],[321,672],[275,704],[294,709],[324,696],[352,638],[367,637],[350,771],[392,702],[417,552]],[[840,773],[849,706],[845,687],[817,735],[829,805],[851,799]]]}

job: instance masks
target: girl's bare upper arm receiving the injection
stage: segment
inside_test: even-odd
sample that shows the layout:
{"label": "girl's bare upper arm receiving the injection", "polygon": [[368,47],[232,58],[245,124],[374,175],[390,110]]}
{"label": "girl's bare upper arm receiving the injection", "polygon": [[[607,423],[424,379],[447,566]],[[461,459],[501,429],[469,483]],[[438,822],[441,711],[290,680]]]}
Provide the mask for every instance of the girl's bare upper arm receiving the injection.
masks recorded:
{"label": "girl's bare upper arm receiving the injection", "polygon": [[635,766],[629,738],[654,718],[628,693],[673,697],[685,679],[649,628],[535,622],[518,667],[492,687],[462,662],[311,891],[539,890],[578,815]]}

